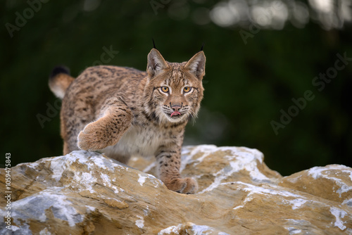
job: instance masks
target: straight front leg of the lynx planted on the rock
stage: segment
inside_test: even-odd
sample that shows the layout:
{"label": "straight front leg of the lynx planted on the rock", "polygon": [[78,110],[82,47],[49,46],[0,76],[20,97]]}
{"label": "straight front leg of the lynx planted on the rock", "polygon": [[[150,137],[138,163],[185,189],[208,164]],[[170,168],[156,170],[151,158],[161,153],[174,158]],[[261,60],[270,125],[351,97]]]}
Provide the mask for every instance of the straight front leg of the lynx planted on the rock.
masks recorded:
{"label": "straight front leg of the lynx planted on the rock", "polygon": [[156,155],[158,173],[165,186],[177,193],[196,193],[198,184],[191,178],[182,178],[180,175],[181,153],[179,149],[161,148]]}

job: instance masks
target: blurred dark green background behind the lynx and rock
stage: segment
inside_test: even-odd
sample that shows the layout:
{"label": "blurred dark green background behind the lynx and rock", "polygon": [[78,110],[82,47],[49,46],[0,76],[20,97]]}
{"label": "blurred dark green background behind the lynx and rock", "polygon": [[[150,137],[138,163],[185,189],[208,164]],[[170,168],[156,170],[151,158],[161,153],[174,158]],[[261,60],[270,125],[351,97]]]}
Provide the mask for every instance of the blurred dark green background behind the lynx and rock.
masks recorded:
{"label": "blurred dark green background behind the lynx and rock", "polygon": [[[55,65],[67,65],[74,77],[98,64],[145,70],[153,38],[170,62],[187,61],[205,43],[205,98],[184,144],[258,148],[283,175],[352,166],[349,0],[1,5],[4,163],[5,153],[12,165],[62,154],[60,102],[48,87]],[[307,91],[310,100],[303,101]]]}

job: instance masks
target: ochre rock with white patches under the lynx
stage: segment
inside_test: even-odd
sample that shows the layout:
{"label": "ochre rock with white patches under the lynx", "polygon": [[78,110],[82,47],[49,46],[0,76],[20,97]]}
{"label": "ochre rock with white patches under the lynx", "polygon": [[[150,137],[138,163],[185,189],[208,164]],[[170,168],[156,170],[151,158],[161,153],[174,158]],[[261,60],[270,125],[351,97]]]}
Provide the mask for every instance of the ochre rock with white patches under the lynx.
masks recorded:
{"label": "ochre rock with white patches under the lynx", "polygon": [[194,195],[169,191],[153,158],[130,165],[142,171],[74,151],[12,167],[12,225],[0,234],[352,234],[352,169],[343,165],[282,177],[256,149],[187,146],[181,173],[199,182]]}

